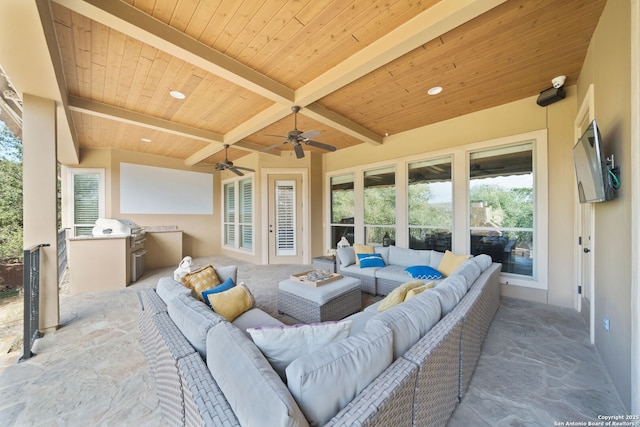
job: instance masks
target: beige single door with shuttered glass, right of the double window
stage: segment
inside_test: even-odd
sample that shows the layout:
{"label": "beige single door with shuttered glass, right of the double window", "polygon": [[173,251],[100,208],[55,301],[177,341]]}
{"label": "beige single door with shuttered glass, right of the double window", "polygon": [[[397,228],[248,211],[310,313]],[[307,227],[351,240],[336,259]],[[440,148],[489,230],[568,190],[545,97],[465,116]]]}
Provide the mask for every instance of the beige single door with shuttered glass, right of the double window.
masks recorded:
{"label": "beige single door with shuttered glass, right of the double window", "polygon": [[302,263],[302,177],[269,175],[269,264]]}

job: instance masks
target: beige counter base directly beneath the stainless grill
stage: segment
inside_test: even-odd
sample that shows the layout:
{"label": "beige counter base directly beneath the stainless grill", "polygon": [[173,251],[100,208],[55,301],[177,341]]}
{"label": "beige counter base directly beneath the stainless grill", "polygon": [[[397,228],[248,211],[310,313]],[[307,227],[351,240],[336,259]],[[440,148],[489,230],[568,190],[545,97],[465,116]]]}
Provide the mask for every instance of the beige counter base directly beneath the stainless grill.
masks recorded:
{"label": "beige counter base directly beneath the stainless grill", "polygon": [[69,237],[69,292],[125,288],[131,282],[129,236]]}

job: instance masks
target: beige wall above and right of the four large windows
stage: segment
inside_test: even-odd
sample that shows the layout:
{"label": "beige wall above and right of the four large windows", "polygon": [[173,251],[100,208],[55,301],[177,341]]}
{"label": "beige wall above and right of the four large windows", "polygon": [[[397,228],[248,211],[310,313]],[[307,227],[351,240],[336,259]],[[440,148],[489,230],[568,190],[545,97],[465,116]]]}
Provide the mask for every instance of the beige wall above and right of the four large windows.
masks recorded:
{"label": "beige wall above and right of the four large windows", "polygon": [[361,165],[362,159],[381,162],[421,153],[446,150],[481,141],[547,129],[549,170],[549,277],[547,291],[503,286],[509,296],[575,307],[573,268],[575,176],[572,148],[573,122],[577,110],[576,88],[567,88],[567,97],[546,108],[537,97],[490,108],[478,113],[436,123],[387,137],[383,145],[361,145],[325,155],[325,171]]}

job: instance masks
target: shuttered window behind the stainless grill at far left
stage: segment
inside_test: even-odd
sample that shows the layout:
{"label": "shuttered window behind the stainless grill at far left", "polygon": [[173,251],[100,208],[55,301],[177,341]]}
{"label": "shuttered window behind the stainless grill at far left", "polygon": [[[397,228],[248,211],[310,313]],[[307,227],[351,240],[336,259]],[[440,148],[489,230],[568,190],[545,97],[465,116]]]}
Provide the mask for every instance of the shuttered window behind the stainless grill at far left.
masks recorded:
{"label": "shuttered window behind the stainless grill at far left", "polygon": [[100,174],[73,175],[73,227],[75,235],[91,234],[100,217]]}

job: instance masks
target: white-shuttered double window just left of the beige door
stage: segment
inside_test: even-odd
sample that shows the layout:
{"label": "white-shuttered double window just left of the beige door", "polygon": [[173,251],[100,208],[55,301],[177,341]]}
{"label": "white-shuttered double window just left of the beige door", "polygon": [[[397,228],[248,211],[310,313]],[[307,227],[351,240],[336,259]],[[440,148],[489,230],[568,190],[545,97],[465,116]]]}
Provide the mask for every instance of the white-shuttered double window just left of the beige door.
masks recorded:
{"label": "white-shuttered double window just left of the beige door", "polygon": [[224,245],[253,250],[253,179],[237,179],[223,184]]}

